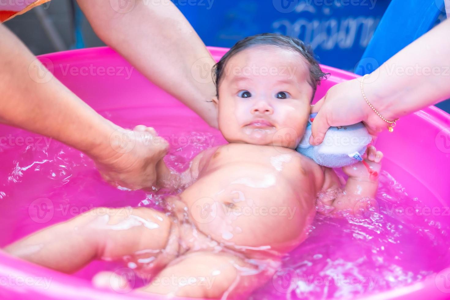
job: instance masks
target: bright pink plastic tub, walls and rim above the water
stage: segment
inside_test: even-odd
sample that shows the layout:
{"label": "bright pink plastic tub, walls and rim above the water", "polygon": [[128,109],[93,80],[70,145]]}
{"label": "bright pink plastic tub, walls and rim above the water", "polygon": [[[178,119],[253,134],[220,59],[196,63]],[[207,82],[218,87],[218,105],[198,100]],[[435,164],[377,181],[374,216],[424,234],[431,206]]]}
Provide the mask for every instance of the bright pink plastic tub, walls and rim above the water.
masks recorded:
{"label": "bright pink plastic tub, walls and rim above the water", "polygon": [[[210,48],[216,59],[225,54],[226,50]],[[171,120],[167,122],[189,118],[190,121],[197,122],[198,126],[206,127],[206,123],[189,108],[148,82],[139,72],[134,71],[128,77],[125,68],[129,69],[130,65],[109,48],[74,50],[40,57],[41,60],[48,62],[46,58],[53,63],[51,71],[54,76],[98,111],[142,107],[143,110],[152,110],[153,113],[170,112]],[[112,66],[116,72],[123,67],[122,75],[117,72],[113,76],[94,76],[99,72],[105,73],[107,70],[96,69],[95,74],[89,71],[89,68],[104,66]],[[87,75],[80,76],[77,73],[75,76],[70,69],[72,67],[76,67],[76,72],[80,73],[85,70]],[[49,68],[52,68],[51,65]],[[331,86],[355,76],[332,67],[322,66],[322,68],[325,72],[330,72],[331,77],[319,87],[315,100],[323,97]],[[407,99],[401,99],[401,101],[407,101]],[[15,132],[18,130],[0,126],[0,136]],[[450,206],[450,115],[436,107],[428,107],[402,118],[395,132],[393,134],[383,132],[376,145],[385,155],[384,170],[401,182],[408,194],[414,195],[430,206]],[[0,165],[10,163],[6,159],[0,155]],[[16,200],[20,202],[20,199],[14,199]],[[14,203],[4,203],[4,201],[5,199],[0,200],[0,209],[3,214],[8,214],[8,207]],[[441,222],[448,224],[450,219],[441,216]],[[23,234],[23,232],[16,234],[18,228],[21,228],[21,224],[6,224],[1,233],[5,236],[3,240],[14,240],[15,237]],[[432,257],[433,253],[417,255]],[[448,267],[450,266],[442,264],[442,269]],[[9,285],[4,280],[4,278],[43,276],[52,278],[51,285],[47,288],[32,283]],[[130,293],[117,294],[96,289],[90,285],[90,282],[81,278],[51,271],[2,252],[0,252],[0,279],[2,279],[0,295],[3,299],[157,299],[156,296],[140,297]],[[421,282],[360,299],[445,299],[447,295],[450,295],[446,294],[450,292],[449,282],[450,271],[444,270],[437,276],[427,277]]]}

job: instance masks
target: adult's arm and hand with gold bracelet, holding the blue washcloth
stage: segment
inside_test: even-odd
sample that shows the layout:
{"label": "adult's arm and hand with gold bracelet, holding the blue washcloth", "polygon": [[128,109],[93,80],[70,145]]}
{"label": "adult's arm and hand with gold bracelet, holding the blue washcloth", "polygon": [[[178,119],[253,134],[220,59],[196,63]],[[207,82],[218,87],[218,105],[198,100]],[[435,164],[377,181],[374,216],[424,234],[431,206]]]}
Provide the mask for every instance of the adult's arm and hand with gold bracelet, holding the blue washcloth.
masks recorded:
{"label": "adult's arm and hand with gold bracelet, holding the blue washcloth", "polygon": [[[384,118],[392,121],[449,98],[449,32],[450,20],[443,21],[364,81],[366,98]],[[330,126],[363,121],[370,134],[378,135],[387,129],[388,123],[365,102],[360,83],[360,78],[356,78],[334,85],[315,104],[312,112],[318,114],[312,125],[312,145],[323,141]],[[397,126],[401,126],[401,120]]]}

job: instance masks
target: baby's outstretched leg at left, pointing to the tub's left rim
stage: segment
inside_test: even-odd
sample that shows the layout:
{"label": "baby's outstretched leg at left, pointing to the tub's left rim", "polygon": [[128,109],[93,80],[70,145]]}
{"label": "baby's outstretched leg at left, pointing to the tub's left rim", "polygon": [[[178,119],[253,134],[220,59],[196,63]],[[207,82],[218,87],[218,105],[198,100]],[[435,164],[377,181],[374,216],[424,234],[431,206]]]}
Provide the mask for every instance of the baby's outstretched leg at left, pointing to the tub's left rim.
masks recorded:
{"label": "baby's outstretched leg at left, pointing to the tub's left rim", "polygon": [[72,273],[94,259],[118,260],[165,249],[171,218],[149,208],[96,208],[32,233],[4,251],[35,264]]}

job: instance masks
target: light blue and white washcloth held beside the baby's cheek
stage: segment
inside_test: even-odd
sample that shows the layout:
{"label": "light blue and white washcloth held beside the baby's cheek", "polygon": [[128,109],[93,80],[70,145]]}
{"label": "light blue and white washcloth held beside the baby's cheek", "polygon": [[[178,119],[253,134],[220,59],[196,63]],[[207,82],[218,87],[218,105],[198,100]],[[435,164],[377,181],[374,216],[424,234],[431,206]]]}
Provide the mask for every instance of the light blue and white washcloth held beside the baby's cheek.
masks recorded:
{"label": "light blue and white washcloth held beside the baby's cheek", "polygon": [[363,123],[348,126],[330,127],[324,141],[311,146],[311,124],[317,113],[310,116],[305,135],[297,147],[297,151],[312,158],[317,164],[329,168],[340,168],[362,161],[367,145],[372,137]]}

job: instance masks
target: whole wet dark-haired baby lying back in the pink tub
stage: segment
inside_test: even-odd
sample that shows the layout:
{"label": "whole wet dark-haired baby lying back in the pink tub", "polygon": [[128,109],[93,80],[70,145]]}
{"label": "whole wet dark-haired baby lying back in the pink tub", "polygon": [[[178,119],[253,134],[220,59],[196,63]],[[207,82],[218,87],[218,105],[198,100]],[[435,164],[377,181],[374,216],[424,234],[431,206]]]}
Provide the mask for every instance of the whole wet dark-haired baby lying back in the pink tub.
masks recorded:
{"label": "whole wet dark-haired baby lying back in the pink tub", "polygon": [[[270,279],[306,238],[318,193],[333,212],[374,197],[383,154],[332,169],[294,149],[325,74],[302,41],[261,34],[239,41],[214,68],[219,127],[226,145],[197,155],[181,174],[154,161],[158,188],[185,188],[150,208],[97,208],[14,242],[5,251],[62,272],[94,259],[125,260],[153,278],[139,291],[198,298],[243,298]],[[156,139],[152,128],[139,125]],[[365,166],[367,164],[369,169]],[[373,173],[371,175],[371,173]]]}

